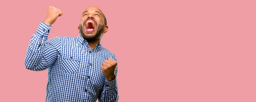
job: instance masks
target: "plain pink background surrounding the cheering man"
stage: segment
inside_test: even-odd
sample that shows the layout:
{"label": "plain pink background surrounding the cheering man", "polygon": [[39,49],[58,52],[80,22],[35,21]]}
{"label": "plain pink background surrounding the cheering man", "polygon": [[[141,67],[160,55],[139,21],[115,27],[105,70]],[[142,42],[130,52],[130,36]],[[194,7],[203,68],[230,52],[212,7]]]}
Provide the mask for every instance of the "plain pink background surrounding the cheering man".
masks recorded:
{"label": "plain pink background surrounding the cheering man", "polygon": [[[5,3],[3,3],[5,2]],[[44,102],[47,71],[24,67],[48,6],[63,15],[48,39],[77,36],[97,6],[118,58],[119,102],[256,102],[255,0],[9,0],[0,3],[0,102]]]}

